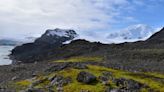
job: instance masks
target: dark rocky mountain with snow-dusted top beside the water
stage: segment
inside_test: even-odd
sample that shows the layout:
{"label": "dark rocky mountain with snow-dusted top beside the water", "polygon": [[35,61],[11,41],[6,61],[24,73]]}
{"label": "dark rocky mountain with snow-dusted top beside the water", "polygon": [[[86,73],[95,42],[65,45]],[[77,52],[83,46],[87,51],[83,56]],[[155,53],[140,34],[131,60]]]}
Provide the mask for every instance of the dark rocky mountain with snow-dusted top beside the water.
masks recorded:
{"label": "dark rocky mountain with snow-dusted top beside the water", "polygon": [[23,63],[43,61],[52,54],[52,50],[62,46],[63,42],[73,40],[77,36],[74,30],[47,30],[34,43],[27,43],[14,48],[10,57],[16,60],[15,63],[18,63],[18,61]]}

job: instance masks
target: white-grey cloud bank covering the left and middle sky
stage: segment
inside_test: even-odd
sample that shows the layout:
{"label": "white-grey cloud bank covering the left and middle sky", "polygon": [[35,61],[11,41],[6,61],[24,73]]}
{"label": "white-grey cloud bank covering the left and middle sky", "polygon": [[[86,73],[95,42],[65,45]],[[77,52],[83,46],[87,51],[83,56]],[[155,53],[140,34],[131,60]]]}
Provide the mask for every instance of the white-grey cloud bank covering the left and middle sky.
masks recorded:
{"label": "white-grey cloud bank covering the left and middle sky", "polygon": [[[48,28],[109,29],[119,19],[127,0],[0,0],[2,36],[40,34]],[[13,36],[14,36],[13,35]]]}

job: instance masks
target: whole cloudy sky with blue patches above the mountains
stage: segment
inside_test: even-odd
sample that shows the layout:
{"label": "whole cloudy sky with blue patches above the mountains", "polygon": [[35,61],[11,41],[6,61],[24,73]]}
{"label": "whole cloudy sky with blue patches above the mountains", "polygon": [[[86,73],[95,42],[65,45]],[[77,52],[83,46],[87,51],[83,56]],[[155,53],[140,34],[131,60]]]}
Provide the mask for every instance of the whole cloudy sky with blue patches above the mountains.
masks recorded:
{"label": "whole cloudy sky with blue patches above the mountains", "polygon": [[95,36],[133,24],[161,27],[163,16],[164,0],[0,0],[0,39],[53,28]]}

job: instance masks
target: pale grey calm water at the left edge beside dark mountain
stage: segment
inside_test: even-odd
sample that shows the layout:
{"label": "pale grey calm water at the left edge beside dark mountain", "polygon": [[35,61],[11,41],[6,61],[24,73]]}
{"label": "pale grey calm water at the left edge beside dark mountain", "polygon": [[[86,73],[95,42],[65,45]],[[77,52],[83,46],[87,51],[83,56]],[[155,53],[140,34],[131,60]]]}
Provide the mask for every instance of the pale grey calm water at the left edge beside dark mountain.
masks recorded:
{"label": "pale grey calm water at the left edge beside dark mountain", "polygon": [[11,64],[12,61],[9,59],[8,55],[13,48],[13,46],[0,46],[0,65]]}

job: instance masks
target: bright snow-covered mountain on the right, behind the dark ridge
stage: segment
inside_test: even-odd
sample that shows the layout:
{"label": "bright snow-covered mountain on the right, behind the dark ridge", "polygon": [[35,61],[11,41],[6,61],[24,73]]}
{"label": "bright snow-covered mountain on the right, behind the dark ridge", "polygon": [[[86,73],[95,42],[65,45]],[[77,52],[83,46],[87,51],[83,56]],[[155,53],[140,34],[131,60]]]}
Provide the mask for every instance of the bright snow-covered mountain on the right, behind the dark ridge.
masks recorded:
{"label": "bright snow-covered mountain on the right, behind the dark ridge", "polygon": [[108,40],[112,40],[113,42],[128,42],[128,41],[138,41],[138,40],[146,40],[156,31],[155,29],[149,27],[145,24],[137,24],[129,26],[121,31],[110,33],[107,36]]}

